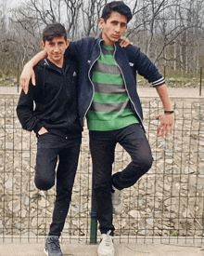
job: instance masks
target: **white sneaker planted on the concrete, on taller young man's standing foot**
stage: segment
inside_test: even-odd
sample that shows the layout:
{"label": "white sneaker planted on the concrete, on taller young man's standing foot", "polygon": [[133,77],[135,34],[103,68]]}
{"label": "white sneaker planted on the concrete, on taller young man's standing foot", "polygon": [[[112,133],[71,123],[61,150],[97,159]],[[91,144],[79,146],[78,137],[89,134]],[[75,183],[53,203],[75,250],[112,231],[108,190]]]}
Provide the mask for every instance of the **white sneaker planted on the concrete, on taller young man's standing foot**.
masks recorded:
{"label": "white sneaker planted on the concrete, on taller young man's standing foot", "polygon": [[101,241],[97,249],[97,256],[114,256],[113,236],[107,234],[101,235]]}

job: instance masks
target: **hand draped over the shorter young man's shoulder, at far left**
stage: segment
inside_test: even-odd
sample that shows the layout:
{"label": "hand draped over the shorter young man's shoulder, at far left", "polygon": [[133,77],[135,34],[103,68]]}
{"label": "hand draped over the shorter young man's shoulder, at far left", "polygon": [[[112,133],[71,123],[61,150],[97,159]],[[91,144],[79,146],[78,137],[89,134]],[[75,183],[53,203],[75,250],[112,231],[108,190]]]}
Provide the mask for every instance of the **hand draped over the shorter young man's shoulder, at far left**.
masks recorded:
{"label": "hand draped over the shorter young man's shoulder, at far left", "polygon": [[32,85],[35,86],[35,76],[34,76],[34,71],[32,69],[32,65],[27,63],[24,66],[23,71],[20,74],[20,78],[19,78],[19,84],[21,88],[24,90],[25,94],[27,94],[29,91],[29,83],[31,78],[32,78]]}

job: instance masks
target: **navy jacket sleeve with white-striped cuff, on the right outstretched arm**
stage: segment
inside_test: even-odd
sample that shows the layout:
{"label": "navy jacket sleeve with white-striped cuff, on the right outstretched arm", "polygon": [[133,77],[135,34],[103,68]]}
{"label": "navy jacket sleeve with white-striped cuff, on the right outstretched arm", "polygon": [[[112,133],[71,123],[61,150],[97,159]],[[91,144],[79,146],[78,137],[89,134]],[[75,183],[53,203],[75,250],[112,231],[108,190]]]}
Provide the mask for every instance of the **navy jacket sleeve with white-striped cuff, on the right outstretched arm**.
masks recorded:
{"label": "navy jacket sleeve with white-striped cuff, on the right outstretched arm", "polygon": [[157,66],[150,61],[146,54],[140,51],[140,48],[133,47],[134,64],[138,74],[144,76],[153,87],[165,84],[163,76],[159,73]]}

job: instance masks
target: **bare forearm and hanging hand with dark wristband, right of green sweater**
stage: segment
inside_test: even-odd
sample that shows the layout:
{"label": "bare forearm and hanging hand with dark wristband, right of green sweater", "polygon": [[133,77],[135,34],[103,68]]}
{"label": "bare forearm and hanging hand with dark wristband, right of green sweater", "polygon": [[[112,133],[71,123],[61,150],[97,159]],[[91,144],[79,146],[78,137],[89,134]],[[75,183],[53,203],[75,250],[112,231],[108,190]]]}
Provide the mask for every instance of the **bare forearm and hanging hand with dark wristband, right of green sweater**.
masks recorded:
{"label": "bare forearm and hanging hand with dark wristband, right of green sweater", "polygon": [[[166,85],[163,84],[157,87],[157,91],[163,104],[164,111],[172,112],[172,103],[170,101]],[[158,134],[161,136],[169,136],[172,133],[174,114],[161,114],[157,115],[156,118],[160,119]]]}

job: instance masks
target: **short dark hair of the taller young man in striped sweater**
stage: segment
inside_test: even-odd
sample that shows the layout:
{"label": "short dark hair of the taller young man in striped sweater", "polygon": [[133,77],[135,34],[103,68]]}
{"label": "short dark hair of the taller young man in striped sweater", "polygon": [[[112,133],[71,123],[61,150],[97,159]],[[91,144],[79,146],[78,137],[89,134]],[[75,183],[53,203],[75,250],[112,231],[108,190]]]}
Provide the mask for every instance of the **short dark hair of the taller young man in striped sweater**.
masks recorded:
{"label": "short dark hair of the taller young man in striped sweater", "polygon": [[113,1],[108,3],[103,8],[101,18],[103,18],[105,21],[108,20],[113,11],[119,12],[121,15],[127,17],[128,22],[133,18],[131,9],[126,6],[122,1]]}

